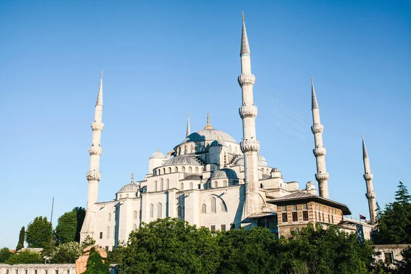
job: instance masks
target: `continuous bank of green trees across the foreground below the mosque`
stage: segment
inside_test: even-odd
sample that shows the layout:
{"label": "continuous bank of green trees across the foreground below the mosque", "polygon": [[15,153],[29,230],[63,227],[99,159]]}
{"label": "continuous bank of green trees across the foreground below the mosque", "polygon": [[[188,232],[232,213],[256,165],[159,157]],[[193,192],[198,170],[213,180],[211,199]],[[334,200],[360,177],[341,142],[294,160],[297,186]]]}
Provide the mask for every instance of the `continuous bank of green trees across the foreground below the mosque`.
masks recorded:
{"label": "continuous bank of green trees across the foreground below the mosque", "polygon": [[334,226],[275,239],[269,229],[212,234],[185,221],[158,219],[130,234],[122,273],[374,273],[371,242]]}

